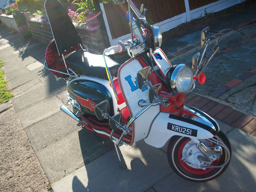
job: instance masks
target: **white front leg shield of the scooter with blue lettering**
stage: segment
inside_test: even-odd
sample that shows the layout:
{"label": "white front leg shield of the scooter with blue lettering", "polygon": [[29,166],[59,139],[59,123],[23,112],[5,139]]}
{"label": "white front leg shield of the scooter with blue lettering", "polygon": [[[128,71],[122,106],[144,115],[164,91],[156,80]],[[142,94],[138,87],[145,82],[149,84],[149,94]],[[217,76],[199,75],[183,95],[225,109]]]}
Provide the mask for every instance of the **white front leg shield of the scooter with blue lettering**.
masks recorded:
{"label": "white front leg shield of the scooter with blue lettering", "polygon": [[[130,60],[130,62],[123,64],[118,71],[118,79],[119,83],[121,84],[121,90],[132,117],[143,109],[143,107],[138,106],[138,102],[141,99],[149,102],[148,88],[141,90],[137,85],[137,72],[141,69],[142,66],[138,60]],[[151,122],[159,111],[159,106],[152,106],[135,120],[134,142],[144,139],[148,135]]]}

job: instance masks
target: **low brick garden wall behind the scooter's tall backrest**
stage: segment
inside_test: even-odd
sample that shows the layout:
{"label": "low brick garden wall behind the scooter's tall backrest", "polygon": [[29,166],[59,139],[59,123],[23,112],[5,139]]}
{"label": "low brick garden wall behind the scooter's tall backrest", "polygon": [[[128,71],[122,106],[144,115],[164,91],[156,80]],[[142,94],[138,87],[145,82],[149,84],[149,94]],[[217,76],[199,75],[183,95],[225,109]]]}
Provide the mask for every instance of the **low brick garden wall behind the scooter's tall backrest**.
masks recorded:
{"label": "low brick garden wall behind the scooter's tall backrest", "polygon": [[[49,43],[49,41],[53,39],[48,22],[42,24],[34,18],[28,19],[27,22],[29,24],[30,32],[34,38],[45,43]],[[92,28],[90,25],[91,23],[82,25],[74,23],[77,32],[81,36],[83,44],[88,46],[89,52],[94,54],[102,54],[106,47],[101,34],[101,29],[100,27]]]}

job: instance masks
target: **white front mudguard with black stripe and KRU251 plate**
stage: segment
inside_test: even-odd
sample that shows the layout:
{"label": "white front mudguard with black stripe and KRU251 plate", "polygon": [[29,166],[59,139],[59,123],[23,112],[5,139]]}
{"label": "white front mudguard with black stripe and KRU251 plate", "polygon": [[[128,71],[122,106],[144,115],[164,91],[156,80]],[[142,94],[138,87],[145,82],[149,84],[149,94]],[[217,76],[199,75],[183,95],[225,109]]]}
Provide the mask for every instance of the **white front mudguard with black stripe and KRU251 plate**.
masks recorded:
{"label": "white front mudguard with black stripe and KRU251 plate", "polygon": [[180,113],[158,113],[151,124],[145,142],[157,148],[166,144],[174,135],[209,139],[219,132],[219,125],[208,114],[192,106],[184,105]]}

